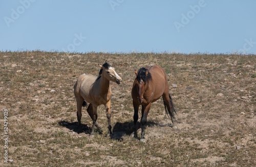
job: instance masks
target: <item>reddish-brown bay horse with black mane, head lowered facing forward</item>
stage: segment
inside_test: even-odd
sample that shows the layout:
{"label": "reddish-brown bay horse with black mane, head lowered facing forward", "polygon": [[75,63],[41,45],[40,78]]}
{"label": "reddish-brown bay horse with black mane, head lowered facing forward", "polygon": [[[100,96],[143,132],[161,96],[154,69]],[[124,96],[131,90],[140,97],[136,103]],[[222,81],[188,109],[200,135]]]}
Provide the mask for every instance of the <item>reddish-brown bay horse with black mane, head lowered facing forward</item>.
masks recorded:
{"label": "reddish-brown bay horse with black mane, head lowered facing forward", "polygon": [[[137,136],[137,121],[139,106],[141,109],[141,138],[140,141],[145,143],[145,124],[151,103],[163,97],[165,112],[172,119],[173,128],[177,128],[175,115],[177,114],[172,97],[169,94],[168,81],[164,69],[160,66],[147,66],[140,68],[138,72],[134,70],[136,78],[132,88],[132,98],[134,107],[134,132],[132,135]],[[166,109],[167,107],[167,109]],[[167,112],[168,110],[168,112]]]}

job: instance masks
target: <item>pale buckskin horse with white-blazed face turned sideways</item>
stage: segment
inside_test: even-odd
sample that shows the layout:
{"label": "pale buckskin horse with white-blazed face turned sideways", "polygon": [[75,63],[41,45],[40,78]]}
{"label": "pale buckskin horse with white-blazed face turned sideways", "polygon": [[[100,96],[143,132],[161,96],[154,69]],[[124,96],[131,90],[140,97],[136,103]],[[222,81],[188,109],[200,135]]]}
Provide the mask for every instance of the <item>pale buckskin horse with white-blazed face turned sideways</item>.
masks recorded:
{"label": "pale buckskin horse with white-blazed face turned sideways", "polygon": [[115,68],[109,63],[105,62],[100,66],[98,77],[90,74],[82,74],[78,77],[74,86],[74,93],[76,98],[77,106],[77,121],[78,121],[78,133],[82,131],[81,128],[81,117],[82,117],[82,106],[87,106],[90,103],[87,112],[93,120],[91,134],[94,135],[95,126],[99,127],[97,122],[97,107],[101,104],[105,106],[106,117],[109,121],[109,132],[108,136],[112,134],[111,126],[111,87],[110,81],[116,82],[118,85],[121,83],[122,78],[116,73]]}

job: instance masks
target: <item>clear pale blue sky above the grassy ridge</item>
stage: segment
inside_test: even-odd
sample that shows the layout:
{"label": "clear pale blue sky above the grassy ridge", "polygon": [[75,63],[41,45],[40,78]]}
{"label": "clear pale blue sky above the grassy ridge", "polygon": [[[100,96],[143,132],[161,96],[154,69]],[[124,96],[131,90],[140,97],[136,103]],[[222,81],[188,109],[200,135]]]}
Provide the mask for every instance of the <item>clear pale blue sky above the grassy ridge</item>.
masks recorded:
{"label": "clear pale blue sky above the grassy ridge", "polygon": [[256,53],[255,0],[0,1],[1,51]]}

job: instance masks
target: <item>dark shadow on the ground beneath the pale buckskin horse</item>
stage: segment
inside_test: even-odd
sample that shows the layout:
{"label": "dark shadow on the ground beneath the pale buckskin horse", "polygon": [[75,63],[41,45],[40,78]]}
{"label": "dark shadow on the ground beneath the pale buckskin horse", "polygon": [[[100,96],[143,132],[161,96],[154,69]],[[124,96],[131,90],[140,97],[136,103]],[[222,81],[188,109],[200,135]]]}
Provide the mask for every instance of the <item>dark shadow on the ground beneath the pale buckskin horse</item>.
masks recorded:
{"label": "dark shadow on the ground beneath the pale buckskin horse", "polygon": [[[67,121],[60,121],[58,123],[62,127],[66,127],[67,129],[79,133],[77,122],[67,122]],[[87,124],[81,124],[82,133],[90,134],[91,128],[87,126]]]}

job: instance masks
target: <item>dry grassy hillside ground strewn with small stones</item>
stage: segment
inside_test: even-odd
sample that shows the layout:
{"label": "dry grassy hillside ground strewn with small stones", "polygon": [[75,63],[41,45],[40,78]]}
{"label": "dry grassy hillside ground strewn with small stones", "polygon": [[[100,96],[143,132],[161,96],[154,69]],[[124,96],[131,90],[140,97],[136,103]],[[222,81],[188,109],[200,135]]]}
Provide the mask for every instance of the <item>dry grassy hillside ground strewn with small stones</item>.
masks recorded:
{"label": "dry grassy hillside ground strewn with small stones", "polygon": [[[14,160],[9,165],[256,166],[256,55],[25,51],[0,52],[0,60],[0,109],[9,110],[8,158]],[[85,132],[77,133],[73,85],[82,73],[97,75],[105,60],[123,82],[111,84],[114,136],[106,137],[101,106],[102,131],[92,138],[86,108]],[[152,104],[143,144],[130,137],[131,89],[134,69],[146,65],[165,69],[179,129],[169,127],[159,100]],[[6,165],[3,158],[0,165]]]}

